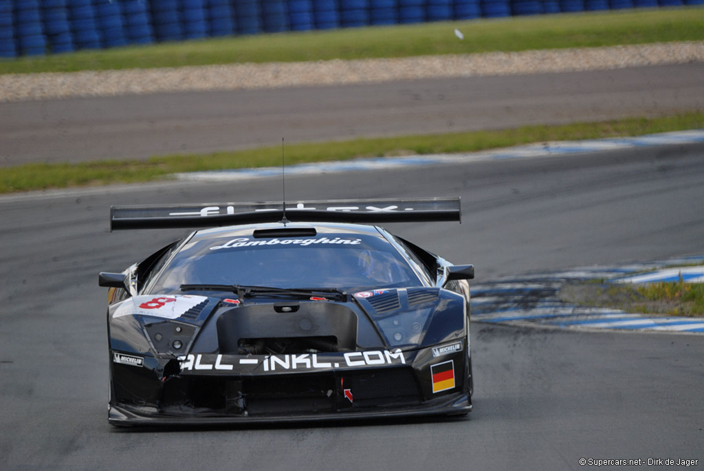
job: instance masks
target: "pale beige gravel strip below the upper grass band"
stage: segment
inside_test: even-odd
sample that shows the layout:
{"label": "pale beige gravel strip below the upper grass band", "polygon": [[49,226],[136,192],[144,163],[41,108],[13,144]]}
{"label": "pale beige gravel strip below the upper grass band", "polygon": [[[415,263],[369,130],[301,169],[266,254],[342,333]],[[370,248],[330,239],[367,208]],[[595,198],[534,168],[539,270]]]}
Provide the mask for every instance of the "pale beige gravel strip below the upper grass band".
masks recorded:
{"label": "pale beige gravel strip below the upper grass band", "polygon": [[704,61],[704,42],[0,75],[0,101],[578,72]]}

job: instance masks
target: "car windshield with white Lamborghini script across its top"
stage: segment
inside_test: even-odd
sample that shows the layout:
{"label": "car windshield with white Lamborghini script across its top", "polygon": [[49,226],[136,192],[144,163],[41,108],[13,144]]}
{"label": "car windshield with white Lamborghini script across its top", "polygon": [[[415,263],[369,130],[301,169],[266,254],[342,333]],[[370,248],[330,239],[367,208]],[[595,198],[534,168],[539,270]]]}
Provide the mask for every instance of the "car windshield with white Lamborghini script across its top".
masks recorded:
{"label": "car windshield with white Lamborghini script across its top", "polygon": [[182,284],[327,287],[347,291],[422,286],[408,262],[388,241],[358,234],[190,241],[149,291],[178,292]]}

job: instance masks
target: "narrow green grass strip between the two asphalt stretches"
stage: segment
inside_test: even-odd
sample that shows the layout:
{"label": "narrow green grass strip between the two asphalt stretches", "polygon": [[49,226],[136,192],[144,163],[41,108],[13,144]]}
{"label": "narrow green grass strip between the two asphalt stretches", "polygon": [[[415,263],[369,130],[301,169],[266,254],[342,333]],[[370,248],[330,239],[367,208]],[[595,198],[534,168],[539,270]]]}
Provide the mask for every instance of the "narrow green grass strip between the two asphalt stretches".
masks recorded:
{"label": "narrow green grass strip between the two asphalt stretches", "polygon": [[[428,134],[346,142],[289,144],[287,165],[336,161],[359,157],[480,151],[532,142],[600,137],[637,136],[704,128],[704,113],[684,113],[661,118],[627,118],[602,123],[559,126],[524,126],[510,130]],[[136,183],[168,179],[177,172],[256,168],[279,165],[280,147],[262,147],[203,155],[156,156],[146,161],[92,163],[31,163],[0,168],[0,194],[98,184]]]}

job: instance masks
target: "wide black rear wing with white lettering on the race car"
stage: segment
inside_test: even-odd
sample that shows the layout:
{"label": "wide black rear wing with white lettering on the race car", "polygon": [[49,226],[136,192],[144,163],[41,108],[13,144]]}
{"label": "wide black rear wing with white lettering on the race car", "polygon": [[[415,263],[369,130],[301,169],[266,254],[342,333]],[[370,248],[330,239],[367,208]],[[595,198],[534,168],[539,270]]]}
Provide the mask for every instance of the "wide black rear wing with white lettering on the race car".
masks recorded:
{"label": "wide black rear wing with white lettering on the race car", "polygon": [[[285,218],[284,218],[285,216]],[[110,230],[217,227],[257,222],[462,222],[460,199],[370,199],[287,203],[111,206]]]}

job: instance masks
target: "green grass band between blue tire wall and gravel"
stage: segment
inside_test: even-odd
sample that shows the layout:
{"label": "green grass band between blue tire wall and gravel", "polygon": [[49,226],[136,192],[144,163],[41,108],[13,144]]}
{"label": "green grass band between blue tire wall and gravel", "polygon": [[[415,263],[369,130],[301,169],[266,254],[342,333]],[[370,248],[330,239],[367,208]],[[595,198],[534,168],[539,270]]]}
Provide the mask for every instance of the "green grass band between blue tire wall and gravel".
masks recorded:
{"label": "green grass band between blue tire wall and gravel", "polygon": [[[465,35],[460,41],[453,31]],[[469,54],[704,40],[704,8],[650,8],[203,39],[0,60],[0,74]]]}

